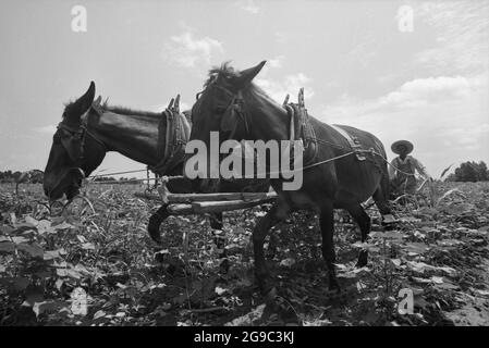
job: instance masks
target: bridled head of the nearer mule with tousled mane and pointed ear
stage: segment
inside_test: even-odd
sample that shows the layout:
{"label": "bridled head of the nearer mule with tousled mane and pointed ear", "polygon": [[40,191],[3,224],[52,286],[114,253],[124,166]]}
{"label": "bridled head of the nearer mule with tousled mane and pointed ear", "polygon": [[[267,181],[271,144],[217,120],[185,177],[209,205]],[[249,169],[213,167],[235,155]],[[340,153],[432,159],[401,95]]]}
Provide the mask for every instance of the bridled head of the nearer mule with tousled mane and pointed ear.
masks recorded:
{"label": "bridled head of the nearer mule with tousled mane and pointed ear", "polygon": [[[219,141],[227,139],[242,140],[246,136],[246,120],[242,91],[252,83],[253,78],[261,71],[265,61],[244,71],[236,71],[223,64],[220,69],[213,69],[209,73],[209,79],[205,89],[198,95],[197,101],[192,108],[192,133],[190,140],[199,140],[210,149],[211,133],[219,134]],[[192,157],[187,154],[186,161]],[[219,163],[211,163],[212,159],[219,159],[219,154],[207,153],[207,169],[194,183],[199,190],[210,191],[217,187],[217,181],[208,179],[212,167]],[[199,169],[201,170],[201,169]],[[185,175],[185,173],[184,173]],[[195,187],[194,186],[194,187]]]}

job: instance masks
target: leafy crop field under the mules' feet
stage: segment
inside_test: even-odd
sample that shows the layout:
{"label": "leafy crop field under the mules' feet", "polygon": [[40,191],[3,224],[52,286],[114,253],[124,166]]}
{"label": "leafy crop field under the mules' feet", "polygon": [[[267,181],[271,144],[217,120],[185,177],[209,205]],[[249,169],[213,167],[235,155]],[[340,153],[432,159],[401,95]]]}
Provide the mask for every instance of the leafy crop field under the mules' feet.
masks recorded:
{"label": "leafy crop field under the mules' feet", "polygon": [[[489,183],[436,183],[383,231],[359,243],[335,212],[342,293],[328,290],[313,213],[276,226],[266,244],[278,308],[254,279],[250,235],[269,207],[224,213],[230,269],[205,216],[171,216],[163,245],[146,233],[155,201],[139,185],[94,185],[64,210],[41,185],[0,186],[0,325],[489,325]],[[362,248],[366,268],[354,264]],[[85,296],[86,295],[86,296]]]}

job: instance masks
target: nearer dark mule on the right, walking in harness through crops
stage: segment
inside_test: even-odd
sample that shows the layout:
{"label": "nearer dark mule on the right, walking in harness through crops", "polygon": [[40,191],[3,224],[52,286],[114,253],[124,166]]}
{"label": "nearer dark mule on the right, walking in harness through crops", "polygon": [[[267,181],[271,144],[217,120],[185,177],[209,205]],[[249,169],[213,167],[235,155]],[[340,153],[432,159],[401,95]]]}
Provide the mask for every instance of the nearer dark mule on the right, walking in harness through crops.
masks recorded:
{"label": "nearer dark mule on the right, walking in harness through crops", "polygon": [[[264,141],[290,139],[291,117],[288,112],[252,83],[264,64],[265,62],[261,62],[242,72],[228,64],[210,71],[205,89],[192,110],[194,125],[191,140],[199,139],[208,145],[210,132],[219,132],[221,142],[230,137],[236,140]],[[317,156],[309,156],[306,150],[304,158],[313,158],[313,166],[304,169],[303,186],[298,190],[283,190],[282,179],[271,179],[279,198],[258,221],[253,233],[255,272],[262,294],[276,293],[265,262],[264,240],[268,231],[284,220],[291,211],[307,209],[319,214],[322,256],[329,273],[329,286],[338,290],[340,287],[334,269],[333,209],[345,209],[350,212],[360,227],[362,241],[366,240],[370,232],[370,217],[360,203],[372,196],[380,212],[390,213],[386,151],[379,139],[367,132],[341,126],[356,137],[364,149],[372,149],[376,153],[365,153],[364,161],[351,154],[321,164],[321,161],[342,156],[352,148],[347,139],[333,127],[314,117],[309,120],[317,137]],[[210,179],[200,179],[200,186],[209,186],[209,182]],[[212,183],[212,186],[216,186],[216,183]],[[357,265],[363,266],[366,263],[367,251],[362,251]]]}

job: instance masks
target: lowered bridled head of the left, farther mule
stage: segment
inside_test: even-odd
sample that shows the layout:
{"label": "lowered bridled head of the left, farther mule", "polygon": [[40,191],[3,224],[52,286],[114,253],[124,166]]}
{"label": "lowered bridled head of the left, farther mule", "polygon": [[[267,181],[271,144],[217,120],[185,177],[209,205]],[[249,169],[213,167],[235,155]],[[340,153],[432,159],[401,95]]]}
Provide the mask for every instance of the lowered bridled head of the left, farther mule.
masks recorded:
{"label": "lowered bridled head of the left, farther mule", "polygon": [[102,145],[87,135],[87,116],[94,102],[95,84],[75,102],[64,108],[62,121],[52,137],[44,176],[44,190],[50,200],[75,197],[82,179],[103,160]]}

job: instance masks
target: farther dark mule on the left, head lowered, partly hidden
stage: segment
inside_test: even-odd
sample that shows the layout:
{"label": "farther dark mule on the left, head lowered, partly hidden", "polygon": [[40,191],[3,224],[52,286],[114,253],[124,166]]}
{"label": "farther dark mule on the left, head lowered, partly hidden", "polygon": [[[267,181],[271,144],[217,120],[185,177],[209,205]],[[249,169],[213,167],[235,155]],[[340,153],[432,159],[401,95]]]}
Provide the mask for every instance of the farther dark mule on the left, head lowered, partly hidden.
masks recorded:
{"label": "farther dark mule on the left, head lowered, partly hidden", "polygon": [[[149,166],[161,162],[161,144],[164,144],[167,121],[161,113],[134,111],[125,108],[100,105],[94,103],[95,84],[76,101],[64,109],[62,121],[52,139],[48,163],[45,170],[44,190],[51,200],[63,195],[73,199],[80,190],[82,179],[100,165],[108,151],[121,154]],[[99,98],[100,99],[100,98]],[[184,127],[190,127],[184,125]],[[187,140],[188,132],[185,141]],[[175,165],[161,175],[178,176],[183,171],[183,152]],[[229,183],[229,191],[240,191],[248,182]],[[168,183],[170,192],[185,194],[193,191],[191,181],[172,179]],[[253,189],[268,190],[269,184],[261,183]],[[150,219],[148,232],[150,237],[161,243],[160,225],[169,215],[163,204]],[[222,229],[222,213],[210,219],[213,229]],[[219,243],[222,246],[222,243]],[[220,248],[221,249],[221,248]]]}

